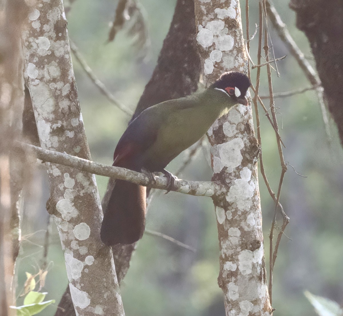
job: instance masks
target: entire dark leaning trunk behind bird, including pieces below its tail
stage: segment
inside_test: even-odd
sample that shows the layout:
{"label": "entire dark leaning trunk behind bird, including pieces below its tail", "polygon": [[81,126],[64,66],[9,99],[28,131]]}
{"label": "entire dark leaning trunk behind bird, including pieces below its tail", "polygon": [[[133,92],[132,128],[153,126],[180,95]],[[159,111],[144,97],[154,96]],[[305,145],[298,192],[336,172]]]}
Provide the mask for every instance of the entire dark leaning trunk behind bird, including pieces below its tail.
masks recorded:
{"label": "entire dark leaning trunk behind bird, including pieces below its tail", "polygon": [[[201,67],[194,40],[195,32],[194,0],[178,0],[157,65],[150,81],[145,86],[132,119],[149,106],[184,97],[197,90]],[[115,180],[110,179],[102,201],[104,212],[106,212],[114,185]],[[136,244],[112,247],[119,284],[130,267],[135,248]],[[73,309],[70,308],[72,303],[69,293],[69,288],[67,288],[59,303],[62,309],[58,308],[55,316],[75,315]]]}

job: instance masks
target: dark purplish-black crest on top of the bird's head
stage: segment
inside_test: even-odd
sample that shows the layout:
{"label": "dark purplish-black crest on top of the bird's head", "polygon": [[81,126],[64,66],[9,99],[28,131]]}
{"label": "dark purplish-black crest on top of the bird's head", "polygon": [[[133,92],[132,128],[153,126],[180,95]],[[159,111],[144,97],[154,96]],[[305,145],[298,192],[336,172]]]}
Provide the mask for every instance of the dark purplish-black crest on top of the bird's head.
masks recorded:
{"label": "dark purplish-black crest on top of the bird's head", "polygon": [[[249,89],[251,82],[249,78],[241,72],[238,71],[228,71],[221,74],[219,79],[211,85],[211,88],[217,88],[226,90],[228,87],[237,87],[241,92],[240,96],[244,97]],[[226,90],[228,92],[228,90]]]}

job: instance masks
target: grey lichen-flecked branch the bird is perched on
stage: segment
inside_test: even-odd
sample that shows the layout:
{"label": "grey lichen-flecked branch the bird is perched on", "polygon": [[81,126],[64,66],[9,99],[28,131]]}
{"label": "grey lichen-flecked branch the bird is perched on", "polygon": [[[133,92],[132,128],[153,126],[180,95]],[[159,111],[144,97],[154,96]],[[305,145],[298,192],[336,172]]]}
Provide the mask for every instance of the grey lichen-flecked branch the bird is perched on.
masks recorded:
{"label": "grey lichen-flecked branch the bird is perched on", "polygon": [[[82,159],[76,156],[68,155],[66,153],[56,152],[52,150],[43,149],[34,145],[17,142],[19,146],[25,150],[31,150],[38,159],[43,162],[51,162],[64,166],[73,167],[84,172],[97,174],[100,176],[126,180],[142,186],[149,186],[155,189],[168,189],[167,178],[156,177],[156,181],[151,182],[149,177],[144,173],[135,172],[130,169],[107,166],[105,164],[93,162],[90,160]],[[176,179],[174,187],[171,191],[176,191],[184,194],[196,196],[215,196],[222,186],[216,182],[211,181],[186,181]]]}

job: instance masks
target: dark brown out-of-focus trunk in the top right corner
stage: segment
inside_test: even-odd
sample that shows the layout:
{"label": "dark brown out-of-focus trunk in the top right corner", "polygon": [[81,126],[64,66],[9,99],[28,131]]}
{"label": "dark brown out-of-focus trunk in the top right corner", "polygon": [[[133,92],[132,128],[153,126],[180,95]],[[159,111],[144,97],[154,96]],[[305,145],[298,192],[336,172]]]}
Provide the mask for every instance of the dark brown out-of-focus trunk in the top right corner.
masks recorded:
{"label": "dark brown out-of-focus trunk in the top right corner", "polygon": [[296,12],[297,27],[310,42],[324,100],[343,145],[343,2],[292,0],[289,6]]}

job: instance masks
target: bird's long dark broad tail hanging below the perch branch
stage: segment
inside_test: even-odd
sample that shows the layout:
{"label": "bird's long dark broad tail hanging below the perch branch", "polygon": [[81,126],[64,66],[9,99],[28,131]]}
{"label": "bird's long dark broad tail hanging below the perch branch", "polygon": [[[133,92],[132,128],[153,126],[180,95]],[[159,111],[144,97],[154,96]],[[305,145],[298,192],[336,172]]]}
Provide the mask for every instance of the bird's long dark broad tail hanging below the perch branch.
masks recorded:
{"label": "bird's long dark broad tail hanging below the perch branch", "polygon": [[145,229],[146,187],[117,180],[101,225],[104,244],[132,244]]}

